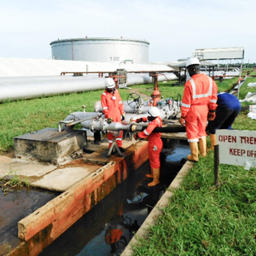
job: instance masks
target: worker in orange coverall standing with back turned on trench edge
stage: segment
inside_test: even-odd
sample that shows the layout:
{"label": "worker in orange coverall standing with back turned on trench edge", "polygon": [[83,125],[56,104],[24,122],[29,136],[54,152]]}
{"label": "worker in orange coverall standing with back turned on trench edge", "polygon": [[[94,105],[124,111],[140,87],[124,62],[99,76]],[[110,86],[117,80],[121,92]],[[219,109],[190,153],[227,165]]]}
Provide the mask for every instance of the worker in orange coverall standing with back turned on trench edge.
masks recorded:
{"label": "worker in orange coverall standing with back turned on trench edge", "polygon": [[[200,154],[206,156],[206,123],[214,120],[217,108],[217,85],[211,77],[200,74],[200,62],[198,58],[190,58],[186,68],[190,79],[185,83],[184,94],[181,103],[181,117],[179,122],[186,125],[188,142],[191,155],[190,161],[198,161],[198,145]],[[186,122],[186,124],[184,123]]]}

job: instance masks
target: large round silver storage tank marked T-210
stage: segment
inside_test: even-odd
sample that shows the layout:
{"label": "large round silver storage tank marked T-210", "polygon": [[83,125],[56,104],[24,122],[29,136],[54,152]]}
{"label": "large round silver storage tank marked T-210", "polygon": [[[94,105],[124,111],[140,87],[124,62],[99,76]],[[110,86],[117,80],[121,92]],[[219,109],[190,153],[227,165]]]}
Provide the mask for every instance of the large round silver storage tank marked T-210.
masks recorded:
{"label": "large round silver storage tank marked T-210", "polygon": [[58,60],[148,63],[149,42],[125,38],[76,38],[50,43],[52,57]]}

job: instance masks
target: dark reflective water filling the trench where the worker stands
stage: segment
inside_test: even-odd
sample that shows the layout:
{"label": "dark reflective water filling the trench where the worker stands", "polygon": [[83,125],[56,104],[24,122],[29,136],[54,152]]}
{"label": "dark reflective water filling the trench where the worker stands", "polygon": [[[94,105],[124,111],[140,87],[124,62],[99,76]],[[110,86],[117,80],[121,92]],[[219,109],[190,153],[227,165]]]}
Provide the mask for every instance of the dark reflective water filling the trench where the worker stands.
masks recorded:
{"label": "dark reflective water filling the trench where the worker stands", "polygon": [[40,256],[120,255],[182,167],[182,158],[190,153],[187,142],[164,141],[164,147],[158,186],[147,187],[151,181],[145,178],[150,170],[147,161]]}

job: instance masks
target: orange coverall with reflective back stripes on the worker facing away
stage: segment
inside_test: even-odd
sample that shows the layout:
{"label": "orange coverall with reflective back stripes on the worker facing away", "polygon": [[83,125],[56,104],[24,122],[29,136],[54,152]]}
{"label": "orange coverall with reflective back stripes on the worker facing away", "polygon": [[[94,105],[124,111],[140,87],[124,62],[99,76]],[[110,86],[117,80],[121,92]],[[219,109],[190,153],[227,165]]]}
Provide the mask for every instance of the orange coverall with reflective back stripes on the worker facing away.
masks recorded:
{"label": "orange coverall with reflective back stripes on the worker facing away", "polygon": [[185,117],[188,142],[206,136],[208,111],[217,108],[217,85],[204,74],[193,75],[184,86],[181,116]]}

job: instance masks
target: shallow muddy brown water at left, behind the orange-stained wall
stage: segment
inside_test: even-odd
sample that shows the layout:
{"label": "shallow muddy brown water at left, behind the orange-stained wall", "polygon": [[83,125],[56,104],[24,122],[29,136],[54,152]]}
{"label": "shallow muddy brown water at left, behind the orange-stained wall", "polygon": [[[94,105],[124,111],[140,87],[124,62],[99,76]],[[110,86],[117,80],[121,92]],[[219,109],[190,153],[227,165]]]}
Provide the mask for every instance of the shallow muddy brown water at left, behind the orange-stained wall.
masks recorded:
{"label": "shallow muddy brown water at left, behind the orange-stained wall", "polygon": [[0,255],[19,244],[18,221],[52,200],[59,193],[17,188],[4,195],[0,190]]}

